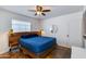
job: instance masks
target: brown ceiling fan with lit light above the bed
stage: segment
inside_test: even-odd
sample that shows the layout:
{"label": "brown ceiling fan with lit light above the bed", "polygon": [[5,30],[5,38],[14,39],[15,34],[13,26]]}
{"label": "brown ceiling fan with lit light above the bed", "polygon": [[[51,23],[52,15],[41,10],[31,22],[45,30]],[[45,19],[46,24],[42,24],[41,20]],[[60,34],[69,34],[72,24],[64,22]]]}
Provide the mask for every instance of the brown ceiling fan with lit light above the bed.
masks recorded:
{"label": "brown ceiling fan with lit light above the bed", "polygon": [[29,10],[30,12],[35,12],[35,15],[46,15],[45,12],[50,12],[51,10],[45,10],[41,5],[36,5],[36,10]]}

